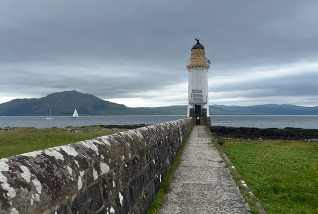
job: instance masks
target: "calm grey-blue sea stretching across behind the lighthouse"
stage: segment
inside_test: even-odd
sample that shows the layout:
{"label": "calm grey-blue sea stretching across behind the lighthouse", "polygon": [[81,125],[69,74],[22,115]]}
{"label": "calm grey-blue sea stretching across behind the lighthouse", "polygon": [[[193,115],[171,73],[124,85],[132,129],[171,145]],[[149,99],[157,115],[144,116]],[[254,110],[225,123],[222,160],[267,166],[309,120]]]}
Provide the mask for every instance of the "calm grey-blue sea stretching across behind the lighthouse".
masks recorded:
{"label": "calm grey-blue sea stretching across behind the lighthouse", "polygon": [[[318,115],[215,115],[210,117],[212,126],[318,129]],[[0,127],[63,128],[89,125],[153,125],[186,118],[186,116],[80,116],[79,118],[53,116],[53,120],[45,120],[45,118],[44,116],[0,116]]]}

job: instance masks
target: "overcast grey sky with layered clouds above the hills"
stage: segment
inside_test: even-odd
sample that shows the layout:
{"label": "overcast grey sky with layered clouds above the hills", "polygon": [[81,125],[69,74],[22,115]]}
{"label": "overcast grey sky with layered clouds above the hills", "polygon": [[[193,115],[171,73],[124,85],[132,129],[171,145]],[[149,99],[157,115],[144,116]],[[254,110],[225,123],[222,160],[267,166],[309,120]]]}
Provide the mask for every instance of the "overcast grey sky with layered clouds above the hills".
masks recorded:
{"label": "overcast grey sky with layered clouds above the hills", "polygon": [[77,90],[186,105],[200,38],[209,103],[318,105],[316,0],[1,0],[0,103]]}

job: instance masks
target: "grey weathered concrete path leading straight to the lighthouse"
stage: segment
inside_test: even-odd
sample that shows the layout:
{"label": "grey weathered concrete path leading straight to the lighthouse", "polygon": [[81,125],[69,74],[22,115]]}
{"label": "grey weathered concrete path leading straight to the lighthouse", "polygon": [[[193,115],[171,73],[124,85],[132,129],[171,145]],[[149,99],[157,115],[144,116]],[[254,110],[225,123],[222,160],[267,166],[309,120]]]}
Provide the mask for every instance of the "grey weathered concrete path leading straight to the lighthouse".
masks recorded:
{"label": "grey weathered concrete path leading straight to the lighthouse", "polygon": [[204,126],[194,126],[160,213],[249,213]]}

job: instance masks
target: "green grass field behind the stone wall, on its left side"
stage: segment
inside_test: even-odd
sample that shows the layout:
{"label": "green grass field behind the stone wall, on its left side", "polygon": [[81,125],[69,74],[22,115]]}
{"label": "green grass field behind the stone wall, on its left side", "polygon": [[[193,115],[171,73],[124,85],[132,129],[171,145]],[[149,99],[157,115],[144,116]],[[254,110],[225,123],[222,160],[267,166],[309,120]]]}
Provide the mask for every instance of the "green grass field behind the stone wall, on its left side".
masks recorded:
{"label": "green grass field behind the stone wall, on its left side", "polygon": [[[65,132],[59,128],[21,128],[17,131],[0,132],[0,158],[11,157],[26,152],[43,150],[96,137],[114,134],[123,130],[104,129],[99,126],[77,127],[87,132]],[[92,130],[93,131],[89,131]]]}

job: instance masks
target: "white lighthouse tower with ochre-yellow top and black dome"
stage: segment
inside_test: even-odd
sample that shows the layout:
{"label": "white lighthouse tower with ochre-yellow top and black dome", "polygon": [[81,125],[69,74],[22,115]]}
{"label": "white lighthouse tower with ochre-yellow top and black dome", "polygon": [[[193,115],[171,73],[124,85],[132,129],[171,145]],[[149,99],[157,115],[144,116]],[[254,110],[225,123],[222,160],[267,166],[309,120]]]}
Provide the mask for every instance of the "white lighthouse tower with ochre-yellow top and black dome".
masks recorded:
{"label": "white lighthouse tower with ochre-yellow top and black dome", "polygon": [[207,71],[210,60],[206,59],[205,49],[199,39],[191,49],[191,57],[187,60],[189,72],[188,84],[188,117],[193,118],[194,125],[211,126],[208,112]]}

